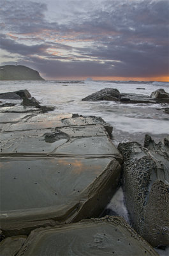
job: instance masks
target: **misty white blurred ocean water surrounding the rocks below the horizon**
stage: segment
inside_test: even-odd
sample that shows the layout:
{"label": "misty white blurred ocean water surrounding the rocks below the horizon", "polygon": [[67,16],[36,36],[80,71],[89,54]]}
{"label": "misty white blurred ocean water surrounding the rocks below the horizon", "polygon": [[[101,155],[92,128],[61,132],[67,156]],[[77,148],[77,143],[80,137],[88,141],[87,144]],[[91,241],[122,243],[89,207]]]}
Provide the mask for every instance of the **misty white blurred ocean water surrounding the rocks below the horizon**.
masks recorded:
{"label": "misty white blurred ocean water surrounding the rocks below the horizon", "polygon": [[[41,105],[55,106],[57,113],[78,113],[84,116],[101,116],[113,126],[112,141],[138,141],[143,145],[145,134],[155,141],[169,131],[169,116],[162,108],[166,104],[126,104],[114,101],[82,101],[91,93],[103,88],[117,88],[121,93],[151,95],[163,88],[169,93],[169,83],[134,81],[0,81],[0,93],[27,89]],[[139,89],[138,88],[142,88]],[[7,100],[9,102],[9,100]],[[17,101],[18,102],[18,101]],[[20,102],[19,102],[20,104]]]}

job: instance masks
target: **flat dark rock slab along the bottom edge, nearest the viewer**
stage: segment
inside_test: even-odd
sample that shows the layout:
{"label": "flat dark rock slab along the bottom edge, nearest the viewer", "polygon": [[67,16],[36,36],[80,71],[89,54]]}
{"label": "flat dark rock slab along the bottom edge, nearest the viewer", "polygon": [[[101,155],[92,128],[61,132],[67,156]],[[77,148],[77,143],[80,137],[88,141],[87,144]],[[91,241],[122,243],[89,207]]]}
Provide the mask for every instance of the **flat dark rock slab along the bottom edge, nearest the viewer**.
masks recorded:
{"label": "flat dark rock slab along the bottom edge, nearest the viewer", "polygon": [[84,220],[31,232],[17,256],[158,255],[121,217]]}

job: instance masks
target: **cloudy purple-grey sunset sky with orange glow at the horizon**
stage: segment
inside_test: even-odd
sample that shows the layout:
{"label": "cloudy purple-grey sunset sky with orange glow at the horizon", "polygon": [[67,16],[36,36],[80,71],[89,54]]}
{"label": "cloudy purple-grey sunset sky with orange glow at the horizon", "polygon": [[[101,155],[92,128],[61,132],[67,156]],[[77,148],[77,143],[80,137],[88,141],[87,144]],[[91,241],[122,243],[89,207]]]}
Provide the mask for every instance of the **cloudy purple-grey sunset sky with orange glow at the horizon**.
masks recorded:
{"label": "cloudy purple-grey sunset sky with orange glow at the horizon", "polygon": [[1,65],[45,79],[169,81],[168,0],[1,0]]}

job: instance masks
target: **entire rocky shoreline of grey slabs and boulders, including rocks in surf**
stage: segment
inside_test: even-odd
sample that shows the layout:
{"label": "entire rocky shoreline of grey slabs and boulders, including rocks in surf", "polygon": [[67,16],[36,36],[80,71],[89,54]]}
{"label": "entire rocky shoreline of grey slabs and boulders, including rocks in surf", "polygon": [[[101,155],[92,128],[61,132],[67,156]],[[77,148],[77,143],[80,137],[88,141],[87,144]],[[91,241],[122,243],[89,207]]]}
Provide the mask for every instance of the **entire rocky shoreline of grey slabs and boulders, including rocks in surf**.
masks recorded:
{"label": "entire rocky shoreline of grey slabs and boulders, including rocks in surf", "polygon": [[[107,89],[102,100],[133,100]],[[10,102],[0,106],[1,255],[142,256],[168,246],[168,138],[156,144],[147,135],[143,147],[117,149],[102,118],[48,113],[54,107],[27,90],[3,99]],[[159,91],[149,100],[168,96]],[[135,231],[120,216],[99,218],[121,184]]]}

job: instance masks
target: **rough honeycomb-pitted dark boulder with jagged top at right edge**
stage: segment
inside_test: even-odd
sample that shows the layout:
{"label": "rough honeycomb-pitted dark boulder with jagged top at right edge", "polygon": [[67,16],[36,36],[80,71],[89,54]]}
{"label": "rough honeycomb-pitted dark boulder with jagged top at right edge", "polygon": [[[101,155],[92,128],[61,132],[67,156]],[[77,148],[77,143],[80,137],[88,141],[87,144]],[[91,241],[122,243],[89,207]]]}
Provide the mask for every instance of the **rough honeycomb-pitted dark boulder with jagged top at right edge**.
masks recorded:
{"label": "rough honeycomb-pitted dark boulder with jagged top at right edge", "polygon": [[133,228],[152,246],[168,245],[168,140],[120,143],[122,186]]}

